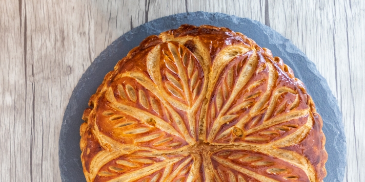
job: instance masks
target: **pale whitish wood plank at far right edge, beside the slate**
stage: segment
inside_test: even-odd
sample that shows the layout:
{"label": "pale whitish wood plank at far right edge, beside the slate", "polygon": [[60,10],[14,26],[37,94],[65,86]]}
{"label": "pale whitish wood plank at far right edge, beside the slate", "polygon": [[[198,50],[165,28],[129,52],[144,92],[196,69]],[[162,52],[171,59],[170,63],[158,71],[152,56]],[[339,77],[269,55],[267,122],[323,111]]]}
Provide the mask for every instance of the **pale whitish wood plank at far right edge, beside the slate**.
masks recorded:
{"label": "pale whitish wood plank at far right edge, beside the slate", "polygon": [[336,2],[334,44],[337,62],[338,101],[347,134],[347,181],[365,179],[365,2]]}

